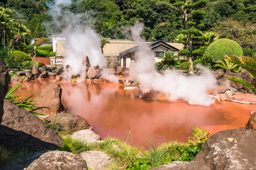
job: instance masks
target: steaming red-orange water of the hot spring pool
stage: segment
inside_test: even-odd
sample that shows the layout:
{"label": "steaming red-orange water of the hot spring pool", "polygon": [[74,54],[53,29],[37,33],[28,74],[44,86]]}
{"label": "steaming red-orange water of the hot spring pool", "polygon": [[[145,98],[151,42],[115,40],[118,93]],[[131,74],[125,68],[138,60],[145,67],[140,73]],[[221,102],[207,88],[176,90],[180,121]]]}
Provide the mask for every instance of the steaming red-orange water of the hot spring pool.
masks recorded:
{"label": "steaming red-orange water of the hot spring pool", "polygon": [[[55,79],[33,80],[23,83],[15,94],[37,95]],[[115,136],[135,145],[144,145],[147,138],[158,141],[186,141],[192,135],[192,127],[216,132],[245,128],[250,112],[256,104],[225,102],[209,107],[189,105],[185,102],[155,102],[136,97],[136,90],[123,90],[122,85],[110,83],[60,82],[62,103],[69,113],[84,117],[96,134],[103,139]],[[17,84],[10,84],[9,88]],[[151,134],[151,137],[149,136]]]}

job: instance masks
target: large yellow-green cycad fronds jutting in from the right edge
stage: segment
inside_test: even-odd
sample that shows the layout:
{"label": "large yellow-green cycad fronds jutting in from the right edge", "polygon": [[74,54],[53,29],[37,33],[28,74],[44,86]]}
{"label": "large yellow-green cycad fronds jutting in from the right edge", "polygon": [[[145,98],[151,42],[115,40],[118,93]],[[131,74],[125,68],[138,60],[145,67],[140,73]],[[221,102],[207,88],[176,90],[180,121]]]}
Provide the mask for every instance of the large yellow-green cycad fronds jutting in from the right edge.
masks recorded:
{"label": "large yellow-green cycad fronds jutting in from the right edge", "polygon": [[[238,56],[225,56],[225,59],[237,64],[238,66],[242,67],[243,69],[246,69],[252,78],[256,79],[256,59],[253,57],[238,57]],[[248,89],[250,89],[254,94],[256,94],[256,87],[249,83],[248,81],[241,79],[239,77],[235,76],[226,76],[225,77],[227,80],[234,81],[236,83],[239,83]]]}

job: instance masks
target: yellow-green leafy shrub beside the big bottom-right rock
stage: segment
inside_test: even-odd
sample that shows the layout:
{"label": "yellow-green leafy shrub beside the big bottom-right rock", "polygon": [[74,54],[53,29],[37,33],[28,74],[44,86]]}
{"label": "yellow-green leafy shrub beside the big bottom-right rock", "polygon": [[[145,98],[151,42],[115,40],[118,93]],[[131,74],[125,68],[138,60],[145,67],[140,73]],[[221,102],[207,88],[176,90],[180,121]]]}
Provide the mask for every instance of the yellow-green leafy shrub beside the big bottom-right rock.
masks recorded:
{"label": "yellow-green leafy shrub beside the big bottom-right rock", "polygon": [[193,129],[193,132],[192,132],[193,136],[187,138],[188,143],[194,146],[199,145],[203,147],[204,143],[211,136],[211,134],[208,131],[197,128],[197,127],[192,129]]}

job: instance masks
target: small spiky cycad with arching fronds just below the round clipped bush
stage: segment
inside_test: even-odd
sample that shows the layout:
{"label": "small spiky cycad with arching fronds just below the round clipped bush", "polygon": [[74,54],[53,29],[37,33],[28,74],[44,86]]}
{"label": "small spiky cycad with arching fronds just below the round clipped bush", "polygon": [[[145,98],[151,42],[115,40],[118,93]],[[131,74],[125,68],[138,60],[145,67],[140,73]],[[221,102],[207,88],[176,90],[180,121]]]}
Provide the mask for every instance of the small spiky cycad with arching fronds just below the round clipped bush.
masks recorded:
{"label": "small spiky cycad with arching fronds just below the round clipped bush", "polygon": [[223,69],[224,72],[235,72],[235,73],[239,73],[242,69],[240,66],[228,61],[227,59],[218,60],[217,63],[213,65],[213,67],[219,67]]}

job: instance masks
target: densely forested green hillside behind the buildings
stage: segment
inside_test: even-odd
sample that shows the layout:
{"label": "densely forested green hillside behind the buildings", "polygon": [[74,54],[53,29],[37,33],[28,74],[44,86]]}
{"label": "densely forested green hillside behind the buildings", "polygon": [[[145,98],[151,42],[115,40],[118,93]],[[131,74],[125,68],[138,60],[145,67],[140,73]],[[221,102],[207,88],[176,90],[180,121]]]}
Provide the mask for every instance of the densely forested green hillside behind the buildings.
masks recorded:
{"label": "densely forested green hillside behind the buildings", "polygon": [[[143,33],[147,41],[174,41],[182,30],[182,11],[175,7],[178,0],[73,0],[69,7],[76,13],[90,13],[95,18],[97,33],[106,38],[126,38],[125,28],[137,20],[145,24]],[[48,37],[47,29],[52,17],[48,14],[49,0],[6,0],[1,6],[15,11],[16,22],[24,24],[31,34],[28,38]],[[200,30],[212,31],[221,26],[224,18],[256,23],[255,0],[208,0],[201,8]],[[197,23],[199,24],[199,23]]]}

